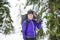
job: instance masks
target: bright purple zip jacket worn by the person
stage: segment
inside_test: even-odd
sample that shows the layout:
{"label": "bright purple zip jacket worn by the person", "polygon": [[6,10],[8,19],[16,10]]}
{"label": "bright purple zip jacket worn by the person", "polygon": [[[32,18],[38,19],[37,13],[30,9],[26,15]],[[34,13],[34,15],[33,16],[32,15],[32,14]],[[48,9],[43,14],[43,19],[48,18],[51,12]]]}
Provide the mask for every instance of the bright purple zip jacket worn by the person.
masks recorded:
{"label": "bright purple zip jacket worn by the person", "polygon": [[27,28],[27,35],[25,35],[25,30],[26,30],[26,20],[22,24],[22,33],[23,33],[23,38],[26,40],[26,38],[34,38],[36,37],[36,27],[38,29],[41,28],[41,22],[36,23],[34,20],[28,20],[28,28]]}

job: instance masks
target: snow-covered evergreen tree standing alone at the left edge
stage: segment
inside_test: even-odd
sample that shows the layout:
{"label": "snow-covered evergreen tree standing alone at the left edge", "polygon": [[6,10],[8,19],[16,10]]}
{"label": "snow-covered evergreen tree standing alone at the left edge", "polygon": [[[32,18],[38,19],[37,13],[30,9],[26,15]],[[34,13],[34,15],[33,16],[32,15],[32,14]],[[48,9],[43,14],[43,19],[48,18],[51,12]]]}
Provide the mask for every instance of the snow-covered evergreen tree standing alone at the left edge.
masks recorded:
{"label": "snow-covered evergreen tree standing alone at the left edge", "polygon": [[10,34],[14,27],[12,25],[12,19],[10,17],[9,8],[5,5],[9,5],[8,2],[0,2],[0,33]]}

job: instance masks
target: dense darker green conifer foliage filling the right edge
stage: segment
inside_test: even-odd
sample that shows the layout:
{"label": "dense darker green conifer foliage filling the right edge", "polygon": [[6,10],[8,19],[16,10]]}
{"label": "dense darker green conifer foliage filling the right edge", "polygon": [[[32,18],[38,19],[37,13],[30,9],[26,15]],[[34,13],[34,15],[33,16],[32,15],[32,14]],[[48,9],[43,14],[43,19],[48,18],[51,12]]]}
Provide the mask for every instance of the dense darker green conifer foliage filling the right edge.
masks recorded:
{"label": "dense darker green conifer foliage filling the right edge", "polygon": [[[59,20],[59,11],[60,11],[60,0],[49,0],[49,13],[50,20],[48,20],[48,28],[50,33],[50,40],[60,40],[60,20]],[[49,18],[48,18],[49,19]],[[49,26],[50,25],[50,26]]]}

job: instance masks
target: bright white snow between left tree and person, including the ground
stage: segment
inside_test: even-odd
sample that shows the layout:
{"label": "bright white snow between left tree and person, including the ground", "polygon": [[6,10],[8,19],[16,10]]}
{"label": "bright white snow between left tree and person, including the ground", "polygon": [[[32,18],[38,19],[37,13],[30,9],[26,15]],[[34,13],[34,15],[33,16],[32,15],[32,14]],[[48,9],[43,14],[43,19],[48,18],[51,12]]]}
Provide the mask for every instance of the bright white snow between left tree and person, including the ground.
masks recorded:
{"label": "bright white snow between left tree and person, including the ground", "polygon": [[0,40],[23,40],[22,36],[22,28],[21,28],[21,17],[19,17],[19,1],[17,0],[8,0],[11,7],[10,8],[10,15],[13,20],[13,26],[14,26],[14,33],[10,35],[4,35],[0,33]]}

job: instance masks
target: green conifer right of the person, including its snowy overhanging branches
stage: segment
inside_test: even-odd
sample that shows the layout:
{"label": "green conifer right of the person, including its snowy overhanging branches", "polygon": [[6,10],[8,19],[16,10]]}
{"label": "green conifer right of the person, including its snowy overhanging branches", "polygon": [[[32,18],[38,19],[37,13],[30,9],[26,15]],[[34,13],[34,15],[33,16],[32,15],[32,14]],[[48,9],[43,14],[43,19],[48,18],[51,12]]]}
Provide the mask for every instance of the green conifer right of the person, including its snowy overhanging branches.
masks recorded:
{"label": "green conifer right of the person, including its snowy overhanging branches", "polygon": [[[32,4],[34,5],[33,8],[37,7],[38,11],[35,10],[40,18],[42,17],[42,14],[48,10],[44,17],[47,19],[46,27],[48,30],[46,35],[49,34],[48,40],[60,40],[60,16],[58,16],[60,15],[60,0],[48,0],[46,3],[44,3],[43,0],[27,0],[27,6]],[[41,9],[39,10],[39,8]],[[38,32],[38,35],[44,36],[43,30],[42,32],[40,31]]]}

